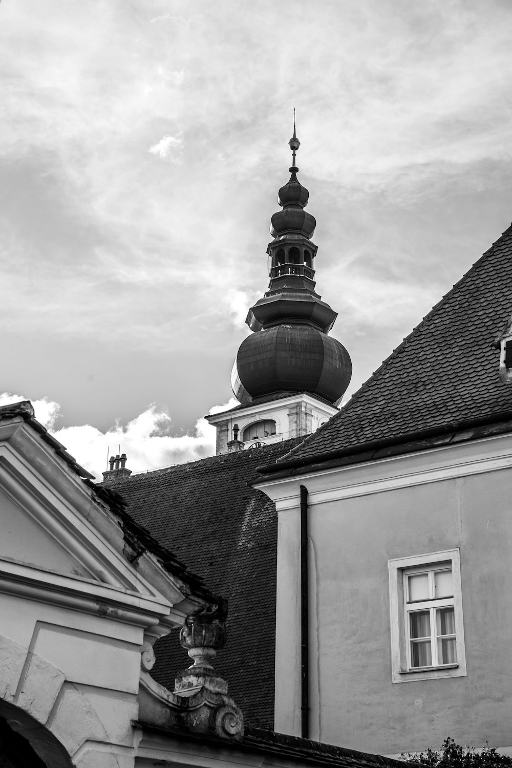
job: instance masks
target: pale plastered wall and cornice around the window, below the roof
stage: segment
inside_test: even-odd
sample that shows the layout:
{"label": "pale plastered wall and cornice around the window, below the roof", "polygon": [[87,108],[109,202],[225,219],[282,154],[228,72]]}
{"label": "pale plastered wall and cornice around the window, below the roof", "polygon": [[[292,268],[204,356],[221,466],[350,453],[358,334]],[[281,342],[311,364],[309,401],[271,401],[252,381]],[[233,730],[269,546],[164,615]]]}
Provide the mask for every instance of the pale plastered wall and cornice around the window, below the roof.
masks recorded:
{"label": "pale plastered wall and cornice around the window, below the roof", "polygon": [[[313,739],[384,754],[510,747],[512,438],[264,482],[278,511],[275,727],[300,735],[299,486],[309,491]],[[394,683],[388,562],[460,551],[467,675]],[[489,632],[489,627],[494,627]],[[441,714],[442,713],[442,714]]]}

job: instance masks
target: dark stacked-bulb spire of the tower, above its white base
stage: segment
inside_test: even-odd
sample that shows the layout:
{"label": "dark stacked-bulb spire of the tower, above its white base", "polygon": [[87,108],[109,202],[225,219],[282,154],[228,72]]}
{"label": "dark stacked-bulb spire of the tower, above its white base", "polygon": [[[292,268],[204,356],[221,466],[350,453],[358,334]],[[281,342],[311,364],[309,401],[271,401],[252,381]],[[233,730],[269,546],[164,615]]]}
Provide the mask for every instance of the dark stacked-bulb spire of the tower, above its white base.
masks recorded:
{"label": "dark stacked-bulb spire of the tower, above its white base", "polygon": [[295,109],[289,147],[292,175],[279,190],[282,210],[271,219],[273,241],[266,251],[269,290],[249,310],[246,323],[253,334],[243,340],[233,369],[233,392],[242,403],[278,392],[307,392],[333,403],[352,372],[345,347],[328,336],[336,313],[315,292],[316,220],[304,210],[309,191],[296,176]]}

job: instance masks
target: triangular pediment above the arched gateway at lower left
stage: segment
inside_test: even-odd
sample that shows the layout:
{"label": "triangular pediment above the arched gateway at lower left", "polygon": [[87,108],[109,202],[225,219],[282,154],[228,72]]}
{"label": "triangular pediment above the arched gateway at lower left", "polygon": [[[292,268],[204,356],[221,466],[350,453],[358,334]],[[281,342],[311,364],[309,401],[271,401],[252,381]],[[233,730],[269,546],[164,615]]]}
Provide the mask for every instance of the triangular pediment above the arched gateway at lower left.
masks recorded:
{"label": "triangular pediment above the arched gateway at lower left", "polygon": [[24,458],[0,443],[0,560],[165,603],[124,557],[121,526],[80,478],[44,446],[38,461]]}

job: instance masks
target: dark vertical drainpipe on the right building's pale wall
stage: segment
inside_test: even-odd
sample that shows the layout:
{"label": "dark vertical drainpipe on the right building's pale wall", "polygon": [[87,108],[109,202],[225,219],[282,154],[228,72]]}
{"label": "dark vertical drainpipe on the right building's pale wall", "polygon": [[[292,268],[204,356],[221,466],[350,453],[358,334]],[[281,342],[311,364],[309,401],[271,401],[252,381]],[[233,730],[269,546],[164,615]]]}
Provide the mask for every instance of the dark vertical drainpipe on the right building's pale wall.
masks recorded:
{"label": "dark vertical drainpipe on the right building's pale wall", "polygon": [[309,739],[308,489],[300,486],[301,736]]}

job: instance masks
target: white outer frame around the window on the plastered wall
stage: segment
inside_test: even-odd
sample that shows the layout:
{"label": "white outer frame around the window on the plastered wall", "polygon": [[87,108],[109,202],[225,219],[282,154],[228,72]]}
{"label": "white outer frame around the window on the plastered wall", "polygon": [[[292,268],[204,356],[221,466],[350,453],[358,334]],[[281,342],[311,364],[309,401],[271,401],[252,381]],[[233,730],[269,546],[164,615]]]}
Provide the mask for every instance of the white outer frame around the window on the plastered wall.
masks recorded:
{"label": "white outer frame around the window on the plastered wall", "polygon": [[[408,642],[408,606],[405,602],[404,574],[442,570],[451,564],[454,584],[454,618],[457,648],[457,664],[432,667],[411,667]],[[413,569],[411,571],[411,569]],[[464,677],[466,672],[466,650],[464,646],[464,622],[462,618],[461,555],[459,549],[429,552],[412,558],[395,558],[388,561],[389,570],[389,611],[391,620],[391,679],[393,683],[409,683],[413,680],[435,680],[440,677]],[[431,601],[433,607],[441,607],[451,599]],[[417,609],[419,610],[419,605]],[[434,630],[432,630],[434,631]]]}

